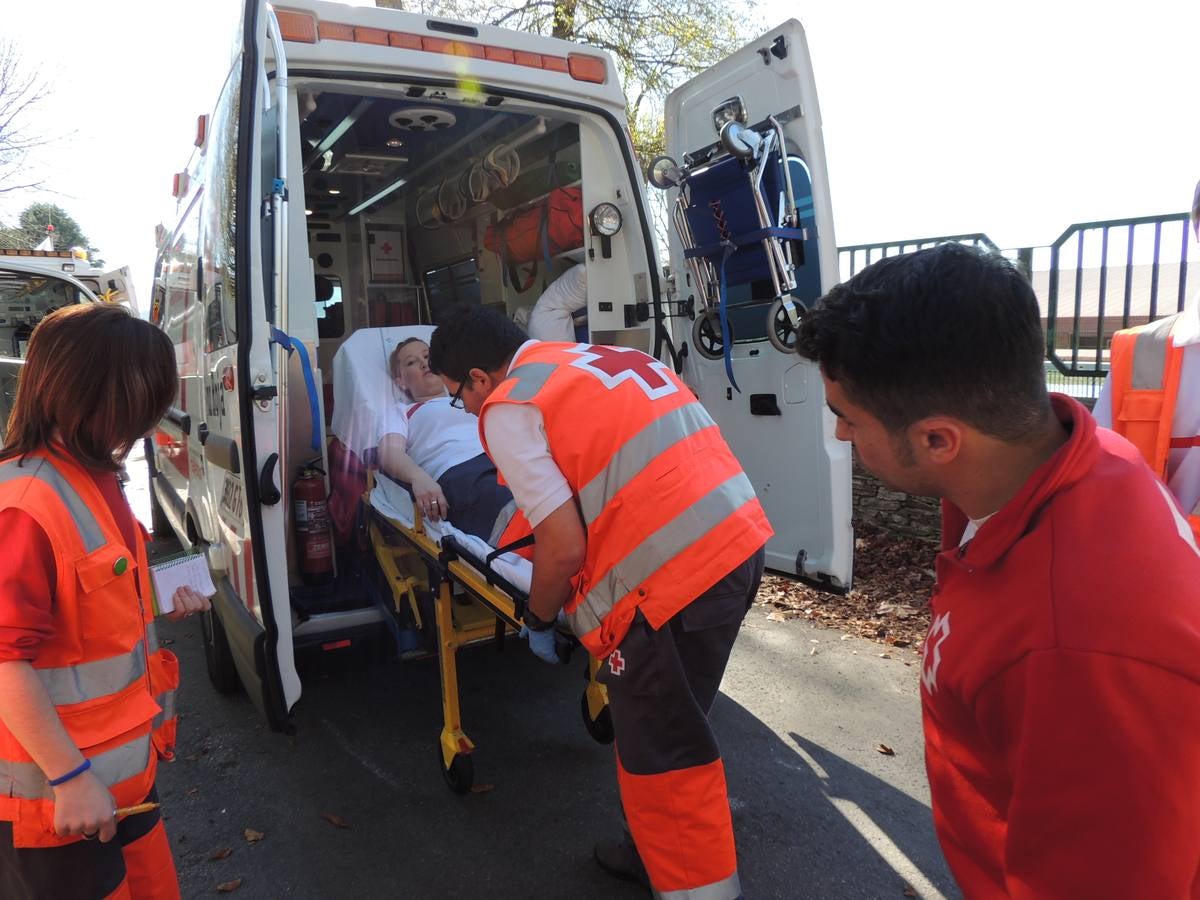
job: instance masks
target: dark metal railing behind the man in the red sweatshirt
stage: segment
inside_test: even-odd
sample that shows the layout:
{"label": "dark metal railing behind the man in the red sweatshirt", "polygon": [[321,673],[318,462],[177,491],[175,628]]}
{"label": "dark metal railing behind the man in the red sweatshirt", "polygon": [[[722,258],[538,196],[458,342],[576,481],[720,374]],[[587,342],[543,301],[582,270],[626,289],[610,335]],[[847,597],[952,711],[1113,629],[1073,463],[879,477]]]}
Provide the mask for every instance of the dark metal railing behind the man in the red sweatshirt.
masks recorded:
{"label": "dark metal railing behind the man in the red sweatshirt", "polygon": [[949,241],[1014,259],[1043,311],[1048,383],[1094,398],[1112,334],[1183,310],[1189,264],[1200,266],[1189,236],[1188,214],[1175,212],[1072,224],[1048,246],[1002,248],[982,232],[856,244],[839,247],[838,262],[845,280],[884,257]]}

